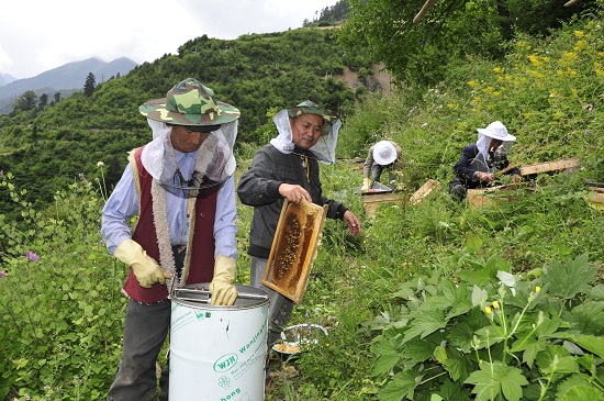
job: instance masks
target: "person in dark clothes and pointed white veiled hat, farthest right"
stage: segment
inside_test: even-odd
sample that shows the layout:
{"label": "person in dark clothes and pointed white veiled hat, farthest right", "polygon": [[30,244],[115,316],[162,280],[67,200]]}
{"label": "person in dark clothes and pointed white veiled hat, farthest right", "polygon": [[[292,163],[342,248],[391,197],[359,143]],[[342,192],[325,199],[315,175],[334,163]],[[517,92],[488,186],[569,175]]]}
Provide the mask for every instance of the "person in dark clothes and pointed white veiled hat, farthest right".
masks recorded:
{"label": "person in dark clothes and pointed white veiled hat, farthest right", "polygon": [[[456,179],[449,182],[449,192],[455,199],[466,198],[468,189],[482,188],[495,180],[495,169],[510,166],[507,154],[514,135],[501,121],[494,121],[485,129],[477,129],[478,141],[463,147],[461,158],[454,166]],[[522,180],[521,170],[512,168],[504,174],[512,176],[512,182]]]}

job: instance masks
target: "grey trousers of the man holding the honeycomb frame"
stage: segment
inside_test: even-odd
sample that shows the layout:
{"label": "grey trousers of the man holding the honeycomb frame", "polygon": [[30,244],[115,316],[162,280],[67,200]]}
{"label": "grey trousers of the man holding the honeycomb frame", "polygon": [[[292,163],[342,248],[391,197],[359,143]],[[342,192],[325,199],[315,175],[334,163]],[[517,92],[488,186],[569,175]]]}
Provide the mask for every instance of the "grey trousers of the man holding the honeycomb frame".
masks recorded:
{"label": "grey trousers of the man holding the honeycomb frame", "polygon": [[281,332],[286,328],[293,311],[293,301],[287,297],[281,296],[279,292],[262,285],[262,278],[265,277],[265,269],[268,259],[250,256],[250,271],[249,283],[251,287],[256,287],[267,291],[269,297],[268,308],[268,349],[272,348],[272,345],[281,338]]}

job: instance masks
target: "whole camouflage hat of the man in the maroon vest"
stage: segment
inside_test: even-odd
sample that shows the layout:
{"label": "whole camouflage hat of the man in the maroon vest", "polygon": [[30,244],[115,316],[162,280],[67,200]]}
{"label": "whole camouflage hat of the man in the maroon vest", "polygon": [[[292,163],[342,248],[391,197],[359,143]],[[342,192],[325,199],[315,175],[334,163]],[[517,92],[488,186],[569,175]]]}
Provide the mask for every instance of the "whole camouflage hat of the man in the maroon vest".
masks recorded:
{"label": "whole camouflage hat of the man in the maroon vest", "polygon": [[214,91],[193,78],[174,86],[166,98],[149,100],[138,111],[148,119],[174,125],[220,125],[237,120],[237,108],[217,101]]}

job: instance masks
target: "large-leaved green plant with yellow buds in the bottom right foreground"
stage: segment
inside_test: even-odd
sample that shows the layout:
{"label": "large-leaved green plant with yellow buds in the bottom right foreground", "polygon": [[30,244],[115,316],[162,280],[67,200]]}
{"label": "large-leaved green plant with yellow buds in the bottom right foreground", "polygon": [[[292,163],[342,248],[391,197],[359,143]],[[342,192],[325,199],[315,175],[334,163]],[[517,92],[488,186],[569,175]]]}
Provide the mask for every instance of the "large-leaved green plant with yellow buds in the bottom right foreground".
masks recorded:
{"label": "large-leaved green plant with yellow buds in the bottom right foreground", "polygon": [[526,275],[497,256],[477,265],[404,282],[400,315],[366,322],[381,330],[379,399],[602,400],[604,286],[588,256]]}

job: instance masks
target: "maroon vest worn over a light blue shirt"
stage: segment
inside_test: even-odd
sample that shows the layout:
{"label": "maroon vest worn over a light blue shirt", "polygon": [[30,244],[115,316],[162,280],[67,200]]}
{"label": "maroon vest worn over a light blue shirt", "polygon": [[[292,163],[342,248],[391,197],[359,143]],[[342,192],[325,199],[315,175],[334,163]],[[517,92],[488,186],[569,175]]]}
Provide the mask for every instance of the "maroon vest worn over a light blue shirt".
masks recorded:
{"label": "maroon vest worn over a light blue shirt", "polygon": [[[153,221],[153,199],[150,187],[153,177],[145,170],[141,161],[143,147],[134,151],[136,174],[141,186],[139,191],[139,215],[136,229],[132,238],[136,241],[147,255],[159,261],[159,246],[157,245],[157,232]],[[187,285],[210,282],[214,276],[214,216],[216,214],[216,199],[220,186],[212,187],[209,193],[204,193],[195,202],[195,226],[192,238],[192,246],[187,249],[190,255],[189,275]],[[190,235],[190,234],[189,234]],[[168,289],[164,285],[153,285],[150,288],[143,288],[136,280],[134,271],[124,283],[125,293],[133,300],[143,303],[155,303],[168,298]]]}

